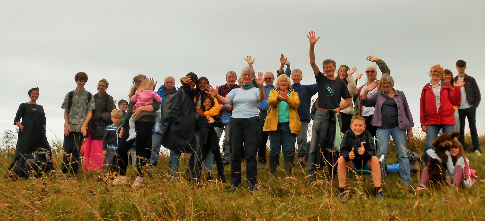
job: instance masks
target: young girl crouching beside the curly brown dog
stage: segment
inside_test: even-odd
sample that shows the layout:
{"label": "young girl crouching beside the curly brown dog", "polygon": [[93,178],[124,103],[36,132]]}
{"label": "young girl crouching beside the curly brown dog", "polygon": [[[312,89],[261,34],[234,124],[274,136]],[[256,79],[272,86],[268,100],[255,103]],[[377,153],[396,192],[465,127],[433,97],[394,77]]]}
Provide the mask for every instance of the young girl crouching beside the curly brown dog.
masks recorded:
{"label": "young girl crouching beside the curly brown dog", "polygon": [[472,173],[470,170],[469,160],[463,154],[463,146],[458,140],[453,140],[450,148],[452,156],[452,164],[448,165],[448,170],[452,175],[450,181],[456,187],[471,187],[474,183]]}

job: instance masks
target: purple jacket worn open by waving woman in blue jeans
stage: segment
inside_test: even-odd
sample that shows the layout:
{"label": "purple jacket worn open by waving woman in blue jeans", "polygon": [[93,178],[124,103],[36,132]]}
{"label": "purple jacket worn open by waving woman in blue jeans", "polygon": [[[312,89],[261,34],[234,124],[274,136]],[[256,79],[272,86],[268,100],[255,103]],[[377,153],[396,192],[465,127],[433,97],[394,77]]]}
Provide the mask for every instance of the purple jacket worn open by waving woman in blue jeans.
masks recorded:
{"label": "purple jacket worn open by waving woman in blue jeans", "polygon": [[[409,130],[413,128],[413,116],[409,105],[407,104],[406,96],[402,91],[394,90],[394,101],[397,104],[397,113],[399,120],[399,128]],[[374,116],[372,117],[371,124],[380,127],[382,126],[382,103],[386,100],[386,93],[381,91],[380,93],[373,94],[370,98],[362,99],[361,104],[366,107],[375,107]]]}

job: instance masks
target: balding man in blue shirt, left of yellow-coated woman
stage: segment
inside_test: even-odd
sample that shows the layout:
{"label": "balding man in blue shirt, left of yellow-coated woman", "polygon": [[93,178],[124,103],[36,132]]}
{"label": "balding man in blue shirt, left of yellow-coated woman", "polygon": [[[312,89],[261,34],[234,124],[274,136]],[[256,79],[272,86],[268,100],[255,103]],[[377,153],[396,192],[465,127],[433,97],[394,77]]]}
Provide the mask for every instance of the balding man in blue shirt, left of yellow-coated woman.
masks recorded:
{"label": "balding man in blue shirt, left of yellow-coated woman", "polygon": [[263,131],[264,122],[266,119],[266,115],[268,114],[268,109],[270,109],[270,105],[268,104],[268,96],[270,95],[270,91],[275,89],[273,85],[273,81],[275,81],[275,77],[273,73],[266,72],[264,74],[264,92],[266,93],[266,97],[262,102],[259,103],[259,141],[258,141],[258,164],[264,165],[266,164],[266,143],[268,142],[268,132]]}

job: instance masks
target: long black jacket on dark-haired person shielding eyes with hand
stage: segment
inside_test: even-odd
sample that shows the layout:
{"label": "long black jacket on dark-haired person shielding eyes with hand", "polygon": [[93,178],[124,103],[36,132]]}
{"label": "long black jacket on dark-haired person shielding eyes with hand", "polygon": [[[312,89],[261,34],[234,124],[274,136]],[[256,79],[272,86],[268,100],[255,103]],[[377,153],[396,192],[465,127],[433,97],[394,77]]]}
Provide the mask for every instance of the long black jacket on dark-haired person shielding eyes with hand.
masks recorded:
{"label": "long black jacket on dark-haired person shielding eyes with hand", "polygon": [[[182,93],[182,90],[184,93]],[[182,97],[185,98],[182,99]],[[182,86],[175,93],[171,105],[170,119],[160,139],[161,144],[170,150],[182,153],[194,153],[195,149],[195,91]],[[182,101],[183,100],[183,101]]]}

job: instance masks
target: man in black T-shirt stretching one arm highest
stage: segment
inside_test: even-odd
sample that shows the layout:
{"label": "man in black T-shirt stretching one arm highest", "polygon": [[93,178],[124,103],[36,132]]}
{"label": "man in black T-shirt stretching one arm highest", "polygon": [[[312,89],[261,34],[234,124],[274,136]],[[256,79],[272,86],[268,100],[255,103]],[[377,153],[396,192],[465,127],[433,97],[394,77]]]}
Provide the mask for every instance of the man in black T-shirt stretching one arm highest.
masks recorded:
{"label": "man in black T-shirt stretching one arm highest", "polygon": [[[329,115],[335,111],[337,115],[341,109],[344,109],[350,105],[350,94],[347,89],[347,85],[344,81],[335,76],[335,61],[326,59],[323,61],[323,75],[318,69],[315,63],[315,43],[320,38],[315,37],[315,32],[311,31],[307,35],[310,41],[310,65],[315,74],[317,81],[318,92],[318,107],[313,121],[312,128],[312,142],[310,145],[310,155],[308,159],[308,172],[307,181],[315,180],[315,171],[317,166],[317,157],[320,151],[325,157],[325,161],[328,163],[329,180],[333,179],[336,173],[338,153],[333,152],[329,146],[333,146],[333,140],[327,139],[327,134],[332,133],[329,128],[332,128],[331,123],[335,123],[335,117]],[[340,101],[344,99],[342,106],[339,106]],[[333,110],[333,111],[332,111]],[[333,120],[332,120],[333,119]],[[333,126],[335,128],[335,125]],[[333,132],[335,133],[335,131]]]}

